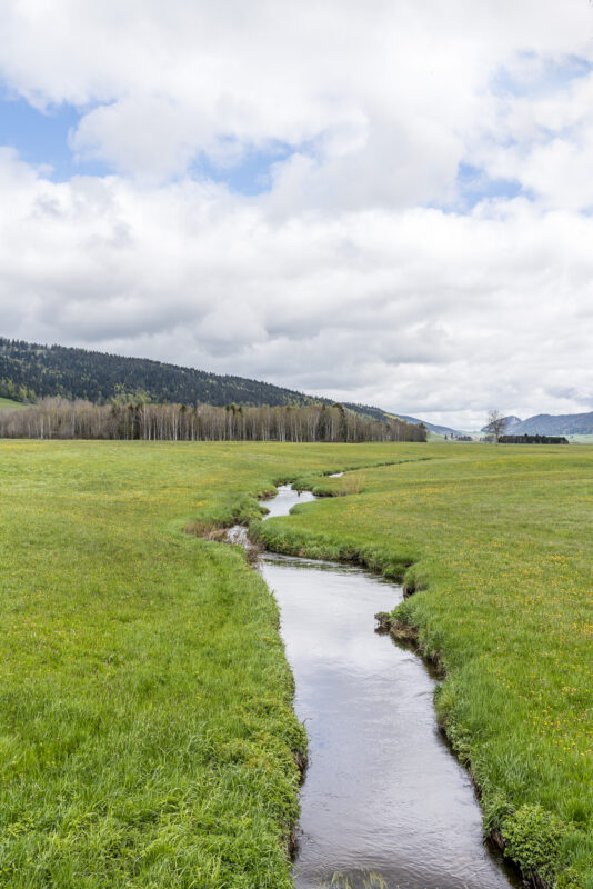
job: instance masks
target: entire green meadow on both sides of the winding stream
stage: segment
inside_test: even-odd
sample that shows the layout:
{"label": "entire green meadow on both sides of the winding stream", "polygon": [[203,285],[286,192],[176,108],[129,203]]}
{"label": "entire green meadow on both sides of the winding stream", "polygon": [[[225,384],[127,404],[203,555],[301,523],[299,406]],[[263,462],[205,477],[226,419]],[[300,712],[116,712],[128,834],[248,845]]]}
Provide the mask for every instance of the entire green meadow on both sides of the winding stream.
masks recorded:
{"label": "entire green meadow on both sides of the winding stream", "polygon": [[[488,829],[592,889],[592,470],[586,446],[0,441],[0,885],[291,886],[305,738],[277,607],[184,530],[251,519],[405,577]],[[293,479],[348,496],[259,522]]]}

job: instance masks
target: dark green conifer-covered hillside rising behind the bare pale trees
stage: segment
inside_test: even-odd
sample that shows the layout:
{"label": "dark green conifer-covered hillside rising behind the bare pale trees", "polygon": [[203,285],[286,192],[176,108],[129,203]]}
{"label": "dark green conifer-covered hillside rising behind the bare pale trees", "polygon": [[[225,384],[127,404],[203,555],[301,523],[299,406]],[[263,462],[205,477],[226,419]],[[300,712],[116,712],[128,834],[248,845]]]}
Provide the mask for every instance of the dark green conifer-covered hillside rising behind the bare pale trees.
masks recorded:
{"label": "dark green conifer-covered hillside rising behind the bare pale trees", "polygon": [[[218,407],[232,402],[272,407],[332,403],[330,399],[242,377],[223,377],[145,358],[0,338],[0,397],[32,401],[47,396],[82,398],[96,404],[112,399]],[[356,413],[388,419],[379,408],[346,407]]]}

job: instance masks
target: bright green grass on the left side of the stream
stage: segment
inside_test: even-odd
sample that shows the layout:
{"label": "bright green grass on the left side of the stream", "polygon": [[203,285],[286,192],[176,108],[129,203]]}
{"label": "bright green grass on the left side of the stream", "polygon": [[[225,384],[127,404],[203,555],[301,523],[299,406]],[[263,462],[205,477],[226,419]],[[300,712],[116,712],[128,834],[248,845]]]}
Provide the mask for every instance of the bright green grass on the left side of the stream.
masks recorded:
{"label": "bright green grass on the left side of the stream", "polygon": [[291,885],[304,738],[275,603],[183,529],[393,453],[0,441],[1,886]]}

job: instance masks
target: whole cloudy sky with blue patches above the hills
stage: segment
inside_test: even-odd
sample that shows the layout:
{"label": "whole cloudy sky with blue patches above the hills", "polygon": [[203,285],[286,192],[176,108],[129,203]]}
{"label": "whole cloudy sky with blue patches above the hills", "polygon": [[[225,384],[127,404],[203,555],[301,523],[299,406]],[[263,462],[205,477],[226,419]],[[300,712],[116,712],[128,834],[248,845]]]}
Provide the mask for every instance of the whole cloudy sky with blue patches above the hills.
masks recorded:
{"label": "whole cloudy sky with blue patches above the hills", "polygon": [[2,0],[0,336],[593,410],[589,0]]}

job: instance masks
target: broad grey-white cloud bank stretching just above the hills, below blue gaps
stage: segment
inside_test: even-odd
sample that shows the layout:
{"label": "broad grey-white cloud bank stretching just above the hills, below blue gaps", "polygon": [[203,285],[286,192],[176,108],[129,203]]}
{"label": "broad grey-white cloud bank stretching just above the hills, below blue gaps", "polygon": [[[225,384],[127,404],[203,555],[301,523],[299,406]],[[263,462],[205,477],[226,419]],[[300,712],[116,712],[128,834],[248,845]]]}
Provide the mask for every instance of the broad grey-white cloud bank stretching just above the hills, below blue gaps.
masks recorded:
{"label": "broad grey-white cloud bank stretching just above the hills, below blue gaps", "polygon": [[57,184],[7,153],[0,177],[13,336],[466,422],[489,403],[576,410],[593,391],[587,217],[516,200],[278,223],[189,180]]}

